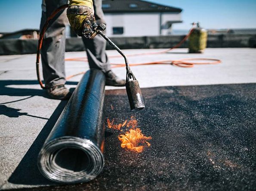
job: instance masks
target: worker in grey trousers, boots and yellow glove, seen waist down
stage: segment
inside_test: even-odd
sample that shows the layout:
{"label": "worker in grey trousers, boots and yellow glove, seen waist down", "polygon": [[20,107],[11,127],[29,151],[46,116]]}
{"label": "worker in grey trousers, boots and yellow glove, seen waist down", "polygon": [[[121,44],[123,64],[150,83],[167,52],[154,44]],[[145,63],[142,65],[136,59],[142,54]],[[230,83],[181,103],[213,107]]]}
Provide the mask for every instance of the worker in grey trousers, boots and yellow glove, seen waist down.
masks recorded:
{"label": "worker in grey trousers, boots and yellow glove, seen waist down", "polygon": [[[52,12],[67,3],[68,0],[43,0],[40,30]],[[70,0],[67,13],[63,10],[49,23],[41,49],[47,93],[55,99],[68,99],[71,96],[71,92],[65,87],[65,25],[68,21],[77,35],[82,36],[89,68],[102,70],[106,85],[125,86],[126,81],[111,71],[105,53],[105,39],[99,35],[93,39],[90,36],[95,22],[105,24],[102,0]]]}

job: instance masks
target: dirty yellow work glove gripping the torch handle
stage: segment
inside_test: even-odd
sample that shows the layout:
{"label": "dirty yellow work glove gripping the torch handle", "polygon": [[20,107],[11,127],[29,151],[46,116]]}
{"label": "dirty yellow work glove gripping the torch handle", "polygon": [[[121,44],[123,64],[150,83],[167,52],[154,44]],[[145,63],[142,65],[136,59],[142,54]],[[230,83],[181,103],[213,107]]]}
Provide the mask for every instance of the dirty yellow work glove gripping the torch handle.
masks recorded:
{"label": "dirty yellow work glove gripping the torch handle", "polygon": [[78,36],[93,38],[95,23],[93,0],[70,0],[67,16],[71,27]]}

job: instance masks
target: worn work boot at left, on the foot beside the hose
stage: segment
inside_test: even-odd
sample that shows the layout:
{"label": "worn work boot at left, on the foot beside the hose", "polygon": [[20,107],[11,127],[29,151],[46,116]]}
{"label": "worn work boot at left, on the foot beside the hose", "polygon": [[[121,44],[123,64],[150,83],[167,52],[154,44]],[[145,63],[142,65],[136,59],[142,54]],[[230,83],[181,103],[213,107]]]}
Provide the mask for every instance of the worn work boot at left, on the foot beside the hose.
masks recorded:
{"label": "worn work boot at left, on the foot beside the hose", "polygon": [[69,99],[72,94],[63,84],[47,88],[47,93],[54,99]]}

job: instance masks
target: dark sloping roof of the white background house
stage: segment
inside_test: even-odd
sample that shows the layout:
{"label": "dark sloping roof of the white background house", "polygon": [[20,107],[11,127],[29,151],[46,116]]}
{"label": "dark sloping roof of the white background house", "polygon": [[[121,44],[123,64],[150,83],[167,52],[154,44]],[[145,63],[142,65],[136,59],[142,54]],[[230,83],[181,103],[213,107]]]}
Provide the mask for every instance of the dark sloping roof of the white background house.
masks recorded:
{"label": "dark sloping roof of the white background house", "polygon": [[144,0],[103,0],[104,13],[127,12],[182,12],[182,9],[151,3]]}

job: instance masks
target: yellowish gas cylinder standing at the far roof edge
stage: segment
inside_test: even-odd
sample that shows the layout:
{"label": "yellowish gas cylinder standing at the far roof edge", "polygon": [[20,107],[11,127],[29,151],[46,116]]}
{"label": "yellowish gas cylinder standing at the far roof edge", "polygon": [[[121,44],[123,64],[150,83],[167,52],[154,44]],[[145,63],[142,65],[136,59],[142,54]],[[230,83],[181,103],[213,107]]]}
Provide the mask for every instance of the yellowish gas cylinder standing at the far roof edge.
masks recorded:
{"label": "yellowish gas cylinder standing at the far roof edge", "polygon": [[188,41],[189,53],[204,52],[207,45],[207,31],[200,27],[199,22],[188,37]]}

